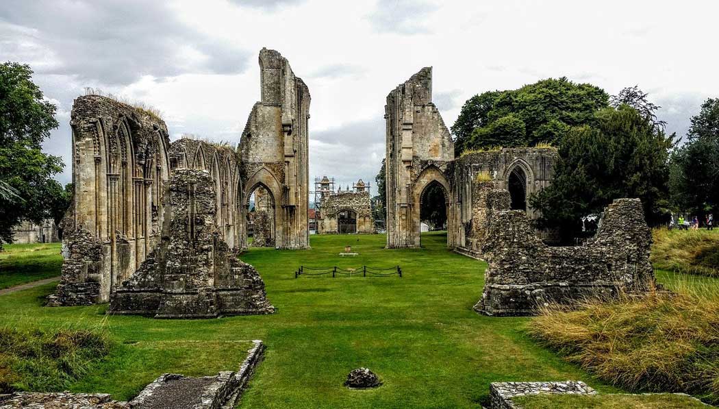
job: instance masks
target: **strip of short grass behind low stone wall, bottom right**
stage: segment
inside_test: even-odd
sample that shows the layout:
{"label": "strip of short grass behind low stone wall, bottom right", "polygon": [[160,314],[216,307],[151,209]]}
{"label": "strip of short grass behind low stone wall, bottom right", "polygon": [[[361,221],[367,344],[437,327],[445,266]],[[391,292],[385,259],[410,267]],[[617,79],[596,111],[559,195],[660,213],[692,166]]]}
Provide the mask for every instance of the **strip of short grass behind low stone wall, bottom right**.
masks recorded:
{"label": "strip of short grass behind low stone wall, bottom right", "polygon": [[690,397],[672,394],[647,395],[530,395],[516,397],[524,409],[703,409],[706,405]]}

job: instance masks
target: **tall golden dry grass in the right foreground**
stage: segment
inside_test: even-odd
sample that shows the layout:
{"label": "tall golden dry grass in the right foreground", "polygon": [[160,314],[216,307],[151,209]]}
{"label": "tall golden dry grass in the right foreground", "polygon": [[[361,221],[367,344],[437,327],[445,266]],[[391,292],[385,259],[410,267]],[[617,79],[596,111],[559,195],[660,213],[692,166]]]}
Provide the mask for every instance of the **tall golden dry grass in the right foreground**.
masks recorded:
{"label": "tall golden dry grass in the right foreground", "polygon": [[696,291],[548,308],[530,334],[569,362],[628,390],[719,402],[719,295]]}

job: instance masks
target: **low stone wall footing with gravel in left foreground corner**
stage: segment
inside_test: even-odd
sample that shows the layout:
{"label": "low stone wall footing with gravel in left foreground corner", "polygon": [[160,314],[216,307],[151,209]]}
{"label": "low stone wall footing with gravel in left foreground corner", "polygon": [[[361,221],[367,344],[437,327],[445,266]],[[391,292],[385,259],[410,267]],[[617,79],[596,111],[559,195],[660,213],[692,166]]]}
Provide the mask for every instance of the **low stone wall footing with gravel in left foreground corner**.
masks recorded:
{"label": "low stone wall footing with gravel in left foreground corner", "polygon": [[255,368],[262,361],[265,345],[252,341],[237,371],[219,372],[213,377],[185,377],[162,374],[129,402],[116,402],[103,393],[19,392],[0,395],[0,409],[10,408],[86,408],[86,409],[159,409],[234,408],[247,387]]}

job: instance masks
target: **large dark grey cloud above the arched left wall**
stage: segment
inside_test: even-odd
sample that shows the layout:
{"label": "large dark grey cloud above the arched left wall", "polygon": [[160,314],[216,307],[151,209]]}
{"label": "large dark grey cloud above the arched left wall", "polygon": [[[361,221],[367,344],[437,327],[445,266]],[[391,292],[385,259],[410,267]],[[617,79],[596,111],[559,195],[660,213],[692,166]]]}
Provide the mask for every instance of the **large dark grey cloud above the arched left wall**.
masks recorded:
{"label": "large dark grey cloud above the arched left wall", "polygon": [[[0,53],[37,73],[127,85],[142,75],[240,73],[250,53],[187,27],[159,1],[0,3]],[[193,55],[193,58],[188,57]]]}

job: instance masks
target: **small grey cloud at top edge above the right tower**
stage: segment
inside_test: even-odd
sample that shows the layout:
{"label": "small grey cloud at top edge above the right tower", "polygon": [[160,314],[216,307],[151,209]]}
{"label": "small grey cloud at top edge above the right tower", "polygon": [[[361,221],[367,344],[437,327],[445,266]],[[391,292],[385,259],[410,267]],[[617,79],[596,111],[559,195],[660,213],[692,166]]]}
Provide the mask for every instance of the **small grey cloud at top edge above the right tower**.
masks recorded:
{"label": "small grey cloud at top edge above the right tower", "polygon": [[427,14],[437,9],[433,4],[418,0],[379,0],[375,11],[367,15],[378,32],[413,35],[431,32],[423,23]]}

